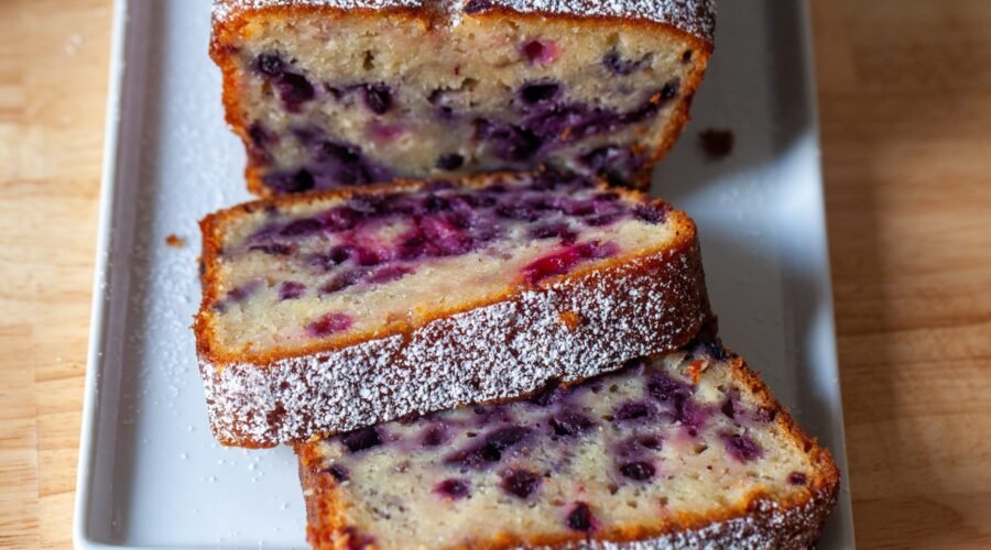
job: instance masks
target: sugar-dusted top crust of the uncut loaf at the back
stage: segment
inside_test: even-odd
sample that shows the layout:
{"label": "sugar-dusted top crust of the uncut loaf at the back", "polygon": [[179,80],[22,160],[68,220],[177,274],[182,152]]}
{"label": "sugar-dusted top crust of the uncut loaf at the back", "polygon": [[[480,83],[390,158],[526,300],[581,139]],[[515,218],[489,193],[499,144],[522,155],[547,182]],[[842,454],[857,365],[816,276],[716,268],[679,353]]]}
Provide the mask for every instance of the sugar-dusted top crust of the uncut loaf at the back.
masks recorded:
{"label": "sugar-dusted top crust of the uncut loaf at the back", "polygon": [[671,25],[709,42],[716,31],[716,0],[214,0],[215,21],[268,8],[428,9],[458,14],[502,9],[518,13],[625,18]]}

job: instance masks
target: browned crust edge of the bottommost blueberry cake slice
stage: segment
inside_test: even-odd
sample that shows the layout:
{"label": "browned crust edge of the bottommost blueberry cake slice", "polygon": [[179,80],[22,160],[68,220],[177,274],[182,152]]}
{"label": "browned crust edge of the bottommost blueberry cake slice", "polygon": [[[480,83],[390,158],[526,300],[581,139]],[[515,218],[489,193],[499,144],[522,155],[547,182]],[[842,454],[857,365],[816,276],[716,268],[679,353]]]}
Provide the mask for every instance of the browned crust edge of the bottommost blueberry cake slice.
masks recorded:
{"label": "browned crust edge of the bottommost blueberry cake slice", "polygon": [[[813,464],[808,492],[796,498],[775,499],[751,493],[718,514],[679,514],[674,519],[636,528],[597,532],[586,539],[502,536],[496,540],[472,540],[472,549],[581,548],[581,549],[666,549],[666,548],[814,548],[823,534],[839,495],[840,471],[829,451],[809,437],[771,395],[770,389],[742,359],[733,356],[733,376],[750,387],[758,403],[776,411],[775,422],[805,451]],[[306,502],[307,540],[316,549],[375,548],[352,546],[359,537],[345,520],[349,503],[337,491],[334,476],[320,470],[319,453],[309,444],[295,447],[300,458],[300,480]]]}

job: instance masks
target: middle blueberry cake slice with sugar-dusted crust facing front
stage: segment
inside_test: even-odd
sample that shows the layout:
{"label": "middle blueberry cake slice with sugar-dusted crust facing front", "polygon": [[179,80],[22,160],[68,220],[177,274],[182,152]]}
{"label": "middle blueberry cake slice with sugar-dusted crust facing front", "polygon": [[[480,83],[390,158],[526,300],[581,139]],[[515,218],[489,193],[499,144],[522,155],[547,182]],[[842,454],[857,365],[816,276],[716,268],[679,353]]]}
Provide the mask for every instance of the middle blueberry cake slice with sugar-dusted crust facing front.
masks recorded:
{"label": "middle blueberry cake slice with sugar-dusted crust facing front", "polygon": [[691,220],[577,175],[282,196],[202,229],[194,329],[229,444],[518,397],[676,349],[710,316]]}

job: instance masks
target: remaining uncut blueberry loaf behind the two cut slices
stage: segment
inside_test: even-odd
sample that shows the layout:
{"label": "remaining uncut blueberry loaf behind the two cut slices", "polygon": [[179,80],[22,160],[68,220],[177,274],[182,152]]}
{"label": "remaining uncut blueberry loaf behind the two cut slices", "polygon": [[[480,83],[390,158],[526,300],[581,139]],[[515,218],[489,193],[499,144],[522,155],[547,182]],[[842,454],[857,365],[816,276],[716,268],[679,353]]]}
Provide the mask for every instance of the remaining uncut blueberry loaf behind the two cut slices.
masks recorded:
{"label": "remaining uncut blueberry loaf behind the two cut slices", "polygon": [[714,0],[215,0],[211,56],[259,194],[497,170],[645,185]]}

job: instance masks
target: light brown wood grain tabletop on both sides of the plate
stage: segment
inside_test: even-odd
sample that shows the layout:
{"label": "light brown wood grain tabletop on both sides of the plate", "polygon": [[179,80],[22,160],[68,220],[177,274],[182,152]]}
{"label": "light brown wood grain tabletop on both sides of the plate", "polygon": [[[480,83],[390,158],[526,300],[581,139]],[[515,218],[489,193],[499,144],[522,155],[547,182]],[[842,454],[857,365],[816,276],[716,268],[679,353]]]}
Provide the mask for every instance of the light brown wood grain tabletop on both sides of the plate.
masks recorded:
{"label": "light brown wood grain tabletop on both sides of the plate", "polygon": [[[72,543],[110,4],[0,0],[0,547]],[[991,1],[813,12],[858,543],[991,548]]]}

